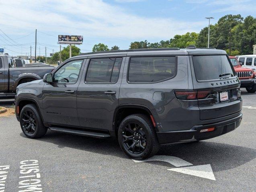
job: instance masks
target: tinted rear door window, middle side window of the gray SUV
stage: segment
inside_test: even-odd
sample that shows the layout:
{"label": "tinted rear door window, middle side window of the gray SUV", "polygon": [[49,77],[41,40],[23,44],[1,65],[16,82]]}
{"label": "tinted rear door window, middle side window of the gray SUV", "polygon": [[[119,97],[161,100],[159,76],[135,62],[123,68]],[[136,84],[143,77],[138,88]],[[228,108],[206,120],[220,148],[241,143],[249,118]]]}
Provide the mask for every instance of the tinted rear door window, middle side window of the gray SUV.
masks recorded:
{"label": "tinted rear door window, middle side window of the gray SUV", "polygon": [[89,83],[115,83],[119,77],[122,58],[91,59],[86,74]]}

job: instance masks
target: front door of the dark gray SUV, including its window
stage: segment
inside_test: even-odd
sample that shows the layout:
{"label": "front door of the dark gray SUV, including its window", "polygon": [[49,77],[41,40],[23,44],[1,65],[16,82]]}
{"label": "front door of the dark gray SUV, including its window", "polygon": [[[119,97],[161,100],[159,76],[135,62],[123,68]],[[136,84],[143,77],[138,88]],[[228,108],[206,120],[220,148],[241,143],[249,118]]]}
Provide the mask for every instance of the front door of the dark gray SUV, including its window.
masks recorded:
{"label": "front door of the dark gray SUV, including its window", "polygon": [[53,74],[53,83],[43,87],[43,117],[51,124],[79,126],[76,94],[82,73],[83,60],[63,64]]}

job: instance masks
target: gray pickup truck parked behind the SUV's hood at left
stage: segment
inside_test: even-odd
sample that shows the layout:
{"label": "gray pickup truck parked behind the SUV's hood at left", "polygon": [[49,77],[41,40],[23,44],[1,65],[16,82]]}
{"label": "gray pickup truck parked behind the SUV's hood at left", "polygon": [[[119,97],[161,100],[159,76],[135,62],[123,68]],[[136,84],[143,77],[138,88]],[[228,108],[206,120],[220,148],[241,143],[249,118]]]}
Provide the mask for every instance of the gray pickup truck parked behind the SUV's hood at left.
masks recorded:
{"label": "gray pickup truck parked behind the SUV's hood at left", "polygon": [[0,55],[0,94],[14,94],[19,84],[40,80],[46,73],[52,72],[54,66],[16,67],[6,55]]}

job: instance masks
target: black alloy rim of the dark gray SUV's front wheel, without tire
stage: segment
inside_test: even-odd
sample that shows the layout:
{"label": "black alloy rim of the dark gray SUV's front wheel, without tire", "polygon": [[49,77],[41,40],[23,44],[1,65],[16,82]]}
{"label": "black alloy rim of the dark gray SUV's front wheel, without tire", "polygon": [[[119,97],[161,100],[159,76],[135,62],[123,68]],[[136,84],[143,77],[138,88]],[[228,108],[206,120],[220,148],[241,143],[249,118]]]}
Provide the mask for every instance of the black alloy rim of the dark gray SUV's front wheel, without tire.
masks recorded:
{"label": "black alloy rim of the dark gray SUV's front wheel, without tire", "polygon": [[33,111],[26,110],[23,113],[23,118],[20,120],[21,124],[28,134],[33,134],[37,128],[37,120],[35,118],[35,114],[33,114]]}

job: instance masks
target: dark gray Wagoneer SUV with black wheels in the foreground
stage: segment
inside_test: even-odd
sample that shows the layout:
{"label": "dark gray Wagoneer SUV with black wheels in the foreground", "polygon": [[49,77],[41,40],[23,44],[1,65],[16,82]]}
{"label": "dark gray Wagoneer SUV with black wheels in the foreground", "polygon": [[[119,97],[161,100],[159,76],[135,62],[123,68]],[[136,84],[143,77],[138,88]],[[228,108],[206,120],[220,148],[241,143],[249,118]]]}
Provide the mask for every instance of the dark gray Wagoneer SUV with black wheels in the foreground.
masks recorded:
{"label": "dark gray Wagoneer SUV with black wheels in the foreground", "polygon": [[164,48],[81,54],[20,84],[16,117],[23,133],[47,129],[117,137],[134,159],[160,144],[193,142],[235,130],[240,81],[223,50]]}

